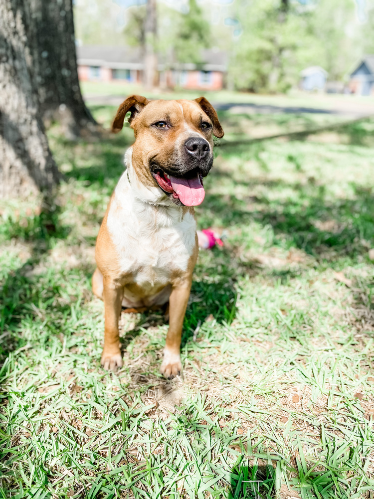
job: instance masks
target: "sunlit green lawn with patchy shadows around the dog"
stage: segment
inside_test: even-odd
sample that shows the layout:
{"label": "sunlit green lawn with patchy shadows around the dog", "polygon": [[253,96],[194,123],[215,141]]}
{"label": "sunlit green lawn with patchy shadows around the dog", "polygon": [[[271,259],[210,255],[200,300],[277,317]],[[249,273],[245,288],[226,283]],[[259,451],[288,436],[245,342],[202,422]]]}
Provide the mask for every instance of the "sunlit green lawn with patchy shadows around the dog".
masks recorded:
{"label": "sunlit green lawn with patchy shadows around the dog", "polygon": [[[229,138],[310,125],[220,118]],[[124,367],[99,365],[94,243],[132,131],[52,128],[66,182],[1,211],[0,497],[373,497],[373,128],[216,148],[196,217],[225,246],[200,251],[171,382],[158,313],[123,313]]]}

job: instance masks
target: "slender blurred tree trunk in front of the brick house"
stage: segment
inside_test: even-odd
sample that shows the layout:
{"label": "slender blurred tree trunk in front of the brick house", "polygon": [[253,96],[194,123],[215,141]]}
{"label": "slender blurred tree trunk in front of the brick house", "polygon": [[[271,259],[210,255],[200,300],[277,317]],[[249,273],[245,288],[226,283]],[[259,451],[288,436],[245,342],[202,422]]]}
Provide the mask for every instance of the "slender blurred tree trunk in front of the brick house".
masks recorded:
{"label": "slender blurred tree trunk in front of the brick house", "polygon": [[156,0],[147,0],[145,21],[144,84],[149,90],[157,84],[157,11]]}

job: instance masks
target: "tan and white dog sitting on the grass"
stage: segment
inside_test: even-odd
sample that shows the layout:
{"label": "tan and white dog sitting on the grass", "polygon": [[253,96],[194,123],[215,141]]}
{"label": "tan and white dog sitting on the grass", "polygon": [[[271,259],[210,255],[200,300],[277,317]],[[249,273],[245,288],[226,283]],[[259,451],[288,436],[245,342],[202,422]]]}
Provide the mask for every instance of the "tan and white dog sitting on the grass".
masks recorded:
{"label": "tan and white dog sitting on the grass", "polygon": [[213,164],[213,134],[223,137],[217,113],[200,97],[156,100],[133,95],[119,107],[112,131],[127,112],[135,143],[111,197],[96,242],[93,292],[104,299],[101,364],[122,366],[118,319],[124,307],[169,301],[169,331],[161,372],[181,373],[182,326],[198,247],[193,206],[204,199],[202,178]]}

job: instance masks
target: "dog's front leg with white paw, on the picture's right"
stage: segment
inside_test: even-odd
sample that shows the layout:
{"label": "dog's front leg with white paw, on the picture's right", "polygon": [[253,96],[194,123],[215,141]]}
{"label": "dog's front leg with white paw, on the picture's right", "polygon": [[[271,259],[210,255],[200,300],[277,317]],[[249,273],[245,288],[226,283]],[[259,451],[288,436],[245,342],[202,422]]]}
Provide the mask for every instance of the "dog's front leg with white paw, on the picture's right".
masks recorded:
{"label": "dog's front leg with white paw, on the picture's right", "polygon": [[191,277],[173,284],[169,298],[169,330],[166,336],[164,359],[161,364],[161,373],[168,379],[181,374],[181,339],[183,321],[186,314]]}

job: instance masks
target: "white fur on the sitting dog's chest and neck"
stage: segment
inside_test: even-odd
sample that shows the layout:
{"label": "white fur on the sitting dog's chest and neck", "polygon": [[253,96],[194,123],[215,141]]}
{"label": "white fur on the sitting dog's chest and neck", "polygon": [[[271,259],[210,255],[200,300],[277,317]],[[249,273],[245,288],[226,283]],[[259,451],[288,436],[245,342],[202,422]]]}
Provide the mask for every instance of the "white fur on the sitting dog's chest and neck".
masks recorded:
{"label": "white fur on the sitting dog's chest and neck", "polygon": [[[158,188],[145,188],[129,164],[113,196],[107,226],[116,247],[120,272],[152,292],[170,282],[176,270],[187,270],[195,244],[196,223],[191,213],[171,203]],[[144,190],[143,190],[144,191]],[[164,204],[157,204],[157,197]],[[155,203],[155,204],[152,204]]]}

